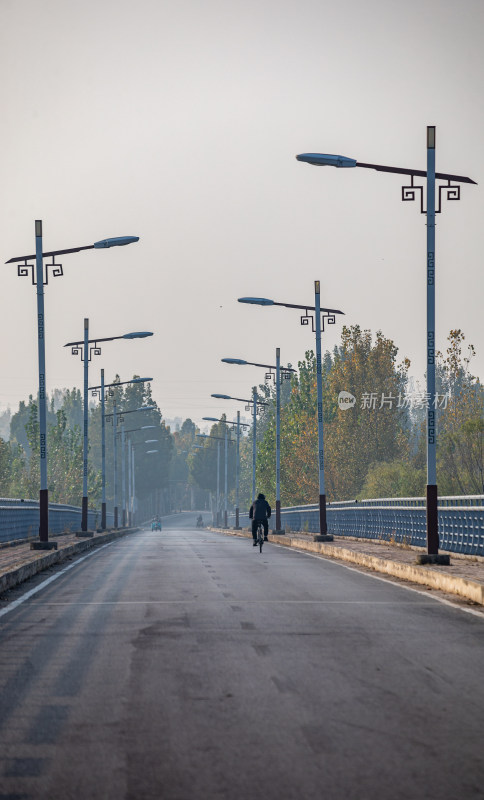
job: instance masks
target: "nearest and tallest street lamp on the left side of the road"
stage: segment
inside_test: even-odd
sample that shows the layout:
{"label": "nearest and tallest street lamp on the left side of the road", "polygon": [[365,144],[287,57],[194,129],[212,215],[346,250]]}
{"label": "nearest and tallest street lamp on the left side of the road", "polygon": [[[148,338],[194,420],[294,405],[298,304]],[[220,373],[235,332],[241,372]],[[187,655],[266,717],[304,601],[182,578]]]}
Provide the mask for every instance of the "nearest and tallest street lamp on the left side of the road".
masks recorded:
{"label": "nearest and tallest street lamp on the left side of the road", "polygon": [[[107,247],[121,247],[139,241],[139,236],[118,236],[112,239],[103,239],[100,242],[84,247],[71,247],[68,250],[42,251],[42,220],[35,220],[35,254],[29,256],[15,256],[6,263],[18,263],[17,275],[19,277],[31,276],[32,284],[37,286],[37,342],[39,359],[39,437],[40,437],[40,491],[39,491],[39,540],[31,542],[31,550],[57,549],[56,542],[49,542],[49,493],[47,488],[47,417],[46,417],[46,377],[45,377],[45,312],[44,312],[44,284],[49,282],[49,267],[52,277],[63,275],[61,263],[56,263],[56,256],[67,253],[78,253],[81,250],[93,250]],[[52,263],[45,265],[43,259],[52,257]],[[29,261],[35,259],[35,267]]]}

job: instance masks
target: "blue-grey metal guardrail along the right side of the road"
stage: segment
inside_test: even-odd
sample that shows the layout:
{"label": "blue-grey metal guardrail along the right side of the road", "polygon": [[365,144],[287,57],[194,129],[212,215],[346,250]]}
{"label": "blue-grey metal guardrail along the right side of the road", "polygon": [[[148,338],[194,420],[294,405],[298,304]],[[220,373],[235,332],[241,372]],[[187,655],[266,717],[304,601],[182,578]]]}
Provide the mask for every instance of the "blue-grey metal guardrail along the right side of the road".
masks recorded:
{"label": "blue-grey metal guardrail along the right side of the road", "polygon": [[[439,497],[439,547],[454,553],[484,556],[484,495]],[[230,516],[232,524],[235,517]],[[424,497],[347,500],[327,505],[328,533],[362,539],[426,546]],[[282,527],[319,533],[319,506],[281,509]],[[249,515],[240,515],[249,525]]]}

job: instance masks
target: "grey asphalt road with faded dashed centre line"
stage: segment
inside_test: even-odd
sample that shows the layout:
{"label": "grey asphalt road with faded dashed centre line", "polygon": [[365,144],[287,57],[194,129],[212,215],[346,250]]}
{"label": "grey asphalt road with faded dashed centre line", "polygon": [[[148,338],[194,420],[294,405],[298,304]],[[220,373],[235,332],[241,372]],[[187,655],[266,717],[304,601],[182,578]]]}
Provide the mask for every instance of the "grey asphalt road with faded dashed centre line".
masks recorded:
{"label": "grey asphalt road with faded dashed centre line", "polygon": [[9,593],[0,800],[484,798],[481,618],[177,517]]}

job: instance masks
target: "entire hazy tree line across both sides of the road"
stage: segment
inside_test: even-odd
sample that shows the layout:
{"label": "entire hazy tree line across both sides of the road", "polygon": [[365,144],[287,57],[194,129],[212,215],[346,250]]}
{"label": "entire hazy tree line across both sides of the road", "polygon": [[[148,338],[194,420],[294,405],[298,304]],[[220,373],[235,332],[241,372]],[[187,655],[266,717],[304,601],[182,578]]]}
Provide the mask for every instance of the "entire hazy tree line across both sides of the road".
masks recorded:
{"label": "entire hazy tree line across both sides of the road", "polygon": [[[475,351],[461,330],[452,330],[445,353],[437,357],[437,483],[440,495],[484,493],[484,390],[472,374]],[[340,343],[323,359],[325,478],[328,500],[423,496],[426,485],[426,403],[422,387],[409,378],[410,362],[380,331],[344,327]],[[114,383],[119,382],[116,376]],[[257,491],[275,503],[275,386],[262,384],[265,400],[257,424]],[[309,350],[298,370],[281,387],[281,502],[283,506],[318,500],[316,361]],[[145,508],[208,508],[217,483],[227,482],[235,504],[236,437],[223,416],[200,438],[186,419],[171,431],[153,400],[149,383],[114,386],[106,398],[107,501],[112,506],[113,404],[118,414],[118,505],[123,452],[121,427],[135,453],[136,495]],[[48,410],[48,486],[52,502],[79,506],[82,496],[82,395],[55,390]],[[154,406],[152,410],[134,412]],[[125,413],[123,416],[122,412]],[[32,396],[11,415],[9,439],[3,421],[0,438],[0,495],[35,498],[39,487],[38,407]],[[147,427],[149,426],[149,427]],[[239,505],[252,493],[252,430],[240,440]],[[147,444],[150,441],[150,444]],[[90,506],[101,502],[101,407],[89,408]],[[148,453],[148,450],[155,452]],[[218,476],[218,477],[217,477]]]}

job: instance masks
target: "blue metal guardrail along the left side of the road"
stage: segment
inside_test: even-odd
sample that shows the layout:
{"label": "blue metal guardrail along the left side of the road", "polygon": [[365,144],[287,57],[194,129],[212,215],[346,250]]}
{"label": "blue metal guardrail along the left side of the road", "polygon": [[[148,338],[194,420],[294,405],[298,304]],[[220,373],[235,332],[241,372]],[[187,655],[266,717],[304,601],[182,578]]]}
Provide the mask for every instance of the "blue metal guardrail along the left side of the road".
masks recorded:
{"label": "blue metal guardrail along the left side of the road", "polygon": [[[114,525],[114,514],[106,515],[107,527]],[[101,524],[100,511],[88,511],[88,528],[96,530]],[[49,533],[81,529],[81,509],[78,506],[49,503]],[[39,503],[37,500],[14,500],[0,497],[0,542],[35,538],[39,535]]]}

